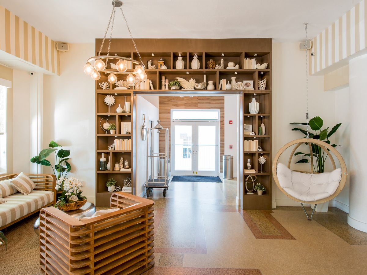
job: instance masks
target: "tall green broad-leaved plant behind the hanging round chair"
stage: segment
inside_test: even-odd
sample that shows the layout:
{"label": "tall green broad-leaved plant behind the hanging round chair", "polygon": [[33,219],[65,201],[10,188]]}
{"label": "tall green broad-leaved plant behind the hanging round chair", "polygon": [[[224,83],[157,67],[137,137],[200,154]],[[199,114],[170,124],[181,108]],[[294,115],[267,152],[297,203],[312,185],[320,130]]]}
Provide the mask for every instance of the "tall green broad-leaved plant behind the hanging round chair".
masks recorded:
{"label": "tall green broad-leaved plant behind the hanging round chair", "polygon": [[[299,124],[299,125],[307,125],[306,122],[293,122],[290,124]],[[313,131],[315,131],[315,133],[312,133],[309,131],[309,138],[310,139],[318,139],[318,140],[322,140],[323,142],[326,142],[328,144],[330,144],[330,140],[329,138],[338,130],[338,128],[340,127],[340,125],[342,125],[341,123],[338,123],[337,125],[335,125],[333,128],[331,128],[331,130],[329,131],[329,127],[322,129],[324,122],[321,119],[321,117],[314,117],[312,118],[308,125],[309,128],[311,128]],[[306,137],[307,135],[307,131],[305,129],[302,128],[293,128],[292,131],[300,131],[301,133],[303,133]],[[312,146],[312,153],[313,153],[313,157],[315,159],[315,161],[313,162],[313,170],[315,172],[318,173],[323,173],[324,172],[324,165],[325,165],[325,161],[328,157],[328,154],[325,153],[325,151],[320,147],[317,146],[316,144],[311,144]],[[337,146],[341,146],[339,144],[331,144],[331,146],[333,146],[334,148]],[[310,153],[305,154],[302,152],[297,152],[294,155],[304,155],[305,157],[308,158],[302,158],[299,161],[297,161],[296,163],[309,163],[309,158],[311,157]]]}

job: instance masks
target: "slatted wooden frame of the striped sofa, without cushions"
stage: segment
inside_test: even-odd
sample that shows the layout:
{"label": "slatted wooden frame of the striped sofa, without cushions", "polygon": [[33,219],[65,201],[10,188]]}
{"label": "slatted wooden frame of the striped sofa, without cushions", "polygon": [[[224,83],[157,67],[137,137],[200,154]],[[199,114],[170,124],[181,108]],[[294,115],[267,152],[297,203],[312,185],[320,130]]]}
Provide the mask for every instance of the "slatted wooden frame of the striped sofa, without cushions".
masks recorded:
{"label": "slatted wooden frame of the striped sofa, without cushions", "polygon": [[[9,179],[14,179],[15,177],[17,177],[19,174],[9,174],[6,176],[1,176],[0,177],[0,181],[2,180],[9,180]],[[55,185],[56,185],[56,177],[55,175],[52,174],[26,174],[31,180],[33,180],[33,182],[36,184],[36,187],[33,189],[35,191],[52,191],[54,192],[54,200],[50,203],[48,203],[47,205],[43,206],[43,207],[47,207],[47,206],[51,206],[54,205],[56,203],[56,190],[55,190]],[[34,210],[31,213],[26,214],[23,217],[20,217],[19,219],[12,221],[11,223],[8,223],[6,225],[4,225],[3,227],[0,227],[0,230],[3,230],[4,228],[7,228],[8,226],[17,223],[20,220],[23,220],[24,218],[37,213],[41,210],[41,208]]]}

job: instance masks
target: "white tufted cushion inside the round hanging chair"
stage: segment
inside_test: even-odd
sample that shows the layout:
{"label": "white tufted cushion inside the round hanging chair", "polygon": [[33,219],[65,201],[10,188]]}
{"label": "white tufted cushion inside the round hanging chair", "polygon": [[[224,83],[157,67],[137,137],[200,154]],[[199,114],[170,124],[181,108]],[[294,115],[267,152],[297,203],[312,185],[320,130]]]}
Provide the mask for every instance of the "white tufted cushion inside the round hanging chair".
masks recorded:
{"label": "white tufted cushion inside the round hanging chair", "polygon": [[279,185],[292,197],[301,201],[317,201],[335,193],[342,176],[340,168],[330,173],[295,172],[282,163],[277,165]]}

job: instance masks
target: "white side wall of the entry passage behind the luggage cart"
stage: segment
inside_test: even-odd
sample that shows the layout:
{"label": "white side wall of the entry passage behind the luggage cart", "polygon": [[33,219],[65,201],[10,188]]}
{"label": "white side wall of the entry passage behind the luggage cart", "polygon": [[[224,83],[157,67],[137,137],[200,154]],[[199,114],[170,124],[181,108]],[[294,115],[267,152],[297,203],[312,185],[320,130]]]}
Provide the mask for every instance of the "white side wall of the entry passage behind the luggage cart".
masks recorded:
{"label": "white side wall of the entry passage behind the luggage cart", "polygon": [[[152,98],[153,102],[158,98],[158,96],[149,96]],[[145,125],[149,128],[149,120],[152,120],[154,125],[159,119],[159,109],[152,103],[148,102],[143,96],[137,96],[137,108],[136,108],[136,155],[137,155],[137,165],[136,165],[136,195],[143,196],[145,194],[145,188],[143,185],[146,182],[146,140],[141,139],[141,127],[143,125],[143,114],[145,114]],[[154,126],[153,125],[153,126]],[[155,140],[155,149],[159,150],[159,139]],[[156,151],[155,151],[156,152]]]}

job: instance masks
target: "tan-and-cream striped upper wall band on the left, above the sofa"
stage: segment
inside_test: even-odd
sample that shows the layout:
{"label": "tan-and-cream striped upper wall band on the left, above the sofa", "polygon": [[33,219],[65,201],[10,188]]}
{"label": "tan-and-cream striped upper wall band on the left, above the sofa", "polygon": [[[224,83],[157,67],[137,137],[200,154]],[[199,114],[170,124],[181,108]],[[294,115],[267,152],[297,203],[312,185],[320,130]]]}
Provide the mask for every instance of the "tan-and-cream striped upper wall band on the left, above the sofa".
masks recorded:
{"label": "tan-and-cream striped upper wall band on the left, above the sofa", "polygon": [[55,41],[0,6],[0,50],[60,74],[59,51]]}

